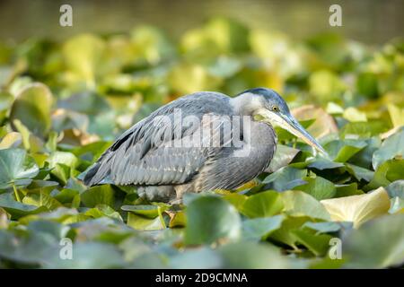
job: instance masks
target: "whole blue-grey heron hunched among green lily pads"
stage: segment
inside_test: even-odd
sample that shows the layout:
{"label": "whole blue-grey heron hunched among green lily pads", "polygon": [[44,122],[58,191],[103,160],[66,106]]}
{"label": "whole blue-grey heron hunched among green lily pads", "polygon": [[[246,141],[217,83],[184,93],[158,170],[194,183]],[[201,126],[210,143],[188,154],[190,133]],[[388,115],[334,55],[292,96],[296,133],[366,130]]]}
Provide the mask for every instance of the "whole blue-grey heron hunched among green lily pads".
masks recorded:
{"label": "whole blue-grey heron hunched among green lily pads", "polygon": [[276,91],[256,88],[234,98],[201,91],[130,127],[87,171],[84,183],[136,186],[139,196],[171,202],[186,192],[234,189],[268,168],[277,148],[275,125],[324,152]]}

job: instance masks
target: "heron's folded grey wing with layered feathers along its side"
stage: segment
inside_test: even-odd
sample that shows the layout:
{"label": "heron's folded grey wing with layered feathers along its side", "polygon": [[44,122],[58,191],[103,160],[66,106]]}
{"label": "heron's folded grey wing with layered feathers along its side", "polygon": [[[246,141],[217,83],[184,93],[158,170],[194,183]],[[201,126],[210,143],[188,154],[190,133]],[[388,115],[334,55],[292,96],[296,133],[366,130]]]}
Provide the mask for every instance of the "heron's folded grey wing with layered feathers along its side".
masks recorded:
{"label": "heron's folded grey wing with layered feathers along its side", "polygon": [[221,124],[221,117],[205,116],[179,129],[172,117],[145,120],[138,128],[121,135],[102,156],[90,185],[106,176],[117,185],[188,182],[229,140],[223,136],[225,125]]}

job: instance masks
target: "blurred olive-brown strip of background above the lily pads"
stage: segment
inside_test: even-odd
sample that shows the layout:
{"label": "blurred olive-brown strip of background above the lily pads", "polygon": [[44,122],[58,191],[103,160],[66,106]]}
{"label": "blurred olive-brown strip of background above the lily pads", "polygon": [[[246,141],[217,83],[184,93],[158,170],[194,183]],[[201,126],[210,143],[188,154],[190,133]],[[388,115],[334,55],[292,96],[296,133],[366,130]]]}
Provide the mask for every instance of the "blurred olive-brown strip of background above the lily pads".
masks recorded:
{"label": "blurred olive-brown strip of background above the lily pads", "polygon": [[[74,26],[58,25],[59,7],[71,4]],[[343,7],[343,27],[329,27],[329,6]],[[400,0],[2,0],[0,39],[33,36],[65,39],[79,32],[122,32],[138,24],[164,28],[174,37],[215,16],[232,17],[251,28],[284,31],[304,39],[324,30],[369,44],[402,36],[404,2]]]}

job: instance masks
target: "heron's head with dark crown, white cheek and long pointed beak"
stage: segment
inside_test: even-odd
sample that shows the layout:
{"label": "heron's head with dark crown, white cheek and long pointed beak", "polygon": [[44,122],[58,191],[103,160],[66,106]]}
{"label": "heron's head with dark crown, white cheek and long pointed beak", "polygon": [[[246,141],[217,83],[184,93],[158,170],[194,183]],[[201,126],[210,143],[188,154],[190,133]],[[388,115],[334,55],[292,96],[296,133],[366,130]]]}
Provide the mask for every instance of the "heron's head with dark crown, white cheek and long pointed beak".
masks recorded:
{"label": "heron's head with dark crown, white cheek and long pointed beak", "polygon": [[276,91],[256,88],[243,91],[239,96],[248,99],[247,105],[249,107],[247,109],[250,109],[250,114],[254,116],[255,120],[265,122],[271,126],[280,126],[323,154],[327,154],[321,144],[292,116],[285,100]]}

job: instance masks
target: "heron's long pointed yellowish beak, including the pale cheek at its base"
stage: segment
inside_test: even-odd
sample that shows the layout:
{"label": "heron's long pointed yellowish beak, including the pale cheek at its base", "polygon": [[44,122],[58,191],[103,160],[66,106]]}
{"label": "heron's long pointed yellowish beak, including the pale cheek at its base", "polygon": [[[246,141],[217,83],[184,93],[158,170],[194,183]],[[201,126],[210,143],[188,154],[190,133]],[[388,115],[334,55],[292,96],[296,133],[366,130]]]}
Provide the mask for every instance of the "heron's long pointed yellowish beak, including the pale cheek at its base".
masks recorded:
{"label": "heron's long pointed yellowish beak, including the pale cheek at its base", "polygon": [[292,115],[274,113],[268,109],[260,109],[258,115],[263,117],[262,121],[269,122],[272,126],[280,126],[289,133],[301,138],[305,143],[311,145],[314,149],[328,156],[328,153],[322,148],[321,144],[310,135],[302,125]]}

